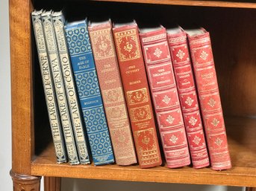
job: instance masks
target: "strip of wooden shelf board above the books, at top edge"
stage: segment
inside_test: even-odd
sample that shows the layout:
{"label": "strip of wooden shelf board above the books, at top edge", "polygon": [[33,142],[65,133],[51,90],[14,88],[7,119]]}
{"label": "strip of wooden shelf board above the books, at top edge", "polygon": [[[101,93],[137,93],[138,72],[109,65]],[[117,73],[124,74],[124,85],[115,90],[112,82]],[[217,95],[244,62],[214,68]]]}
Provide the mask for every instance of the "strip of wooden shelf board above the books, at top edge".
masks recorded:
{"label": "strip of wooden shelf board above the books, at top edge", "polygon": [[[102,0],[93,0],[102,1]],[[187,5],[187,6],[201,6],[201,7],[234,7],[234,8],[256,8],[256,3],[246,1],[194,1],[194,0],[103,0],[116,2],[130,2],[130,3],[146,3],[146,4],[172,4],[172,5]]]}

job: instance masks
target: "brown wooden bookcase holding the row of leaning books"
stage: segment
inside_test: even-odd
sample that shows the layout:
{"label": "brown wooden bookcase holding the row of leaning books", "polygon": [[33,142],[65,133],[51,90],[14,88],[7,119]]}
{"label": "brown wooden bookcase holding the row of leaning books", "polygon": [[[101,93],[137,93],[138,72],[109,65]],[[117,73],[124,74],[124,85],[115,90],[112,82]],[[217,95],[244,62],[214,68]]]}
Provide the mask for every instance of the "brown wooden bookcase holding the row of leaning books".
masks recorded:
{"label": "brown wooden bookcase holding the row of leaning books", "polygon": [[[56,164],[31,29],[34,8],[66,7],[67,18],[111,16],[136,19],[138,25],[160,22],[168,27],[196,22],[210,31],[225,114],[232,168],[93,166]],[[154,13],[154,14],[152,14]],[[256,187],[256,3],[253,1],[10,0],[13,190],[60,190],[60,178],[92,178],[180,184]]]}

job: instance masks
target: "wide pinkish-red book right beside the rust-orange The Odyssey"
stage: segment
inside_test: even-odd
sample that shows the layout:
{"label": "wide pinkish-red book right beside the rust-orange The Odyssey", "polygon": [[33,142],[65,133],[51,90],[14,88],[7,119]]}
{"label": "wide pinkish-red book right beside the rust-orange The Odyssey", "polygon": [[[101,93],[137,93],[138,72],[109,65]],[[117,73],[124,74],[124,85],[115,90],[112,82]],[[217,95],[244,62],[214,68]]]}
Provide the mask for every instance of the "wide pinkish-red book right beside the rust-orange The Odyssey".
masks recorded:
{"label": "wide pinkish-red book right beside the rust-orange The Odyssey", "polygon": [[187,166],[190,164],[190,152],[166,29],[158,27],[140,30],[140,40],[167,166]]}

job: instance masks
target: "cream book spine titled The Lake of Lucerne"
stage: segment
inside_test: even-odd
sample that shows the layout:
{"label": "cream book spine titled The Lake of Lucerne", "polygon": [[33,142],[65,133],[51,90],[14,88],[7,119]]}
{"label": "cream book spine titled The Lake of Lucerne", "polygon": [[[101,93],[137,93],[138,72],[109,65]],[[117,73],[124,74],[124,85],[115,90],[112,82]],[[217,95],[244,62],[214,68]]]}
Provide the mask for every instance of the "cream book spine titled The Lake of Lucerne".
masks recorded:
{"label": "cream book spine titled The Lake of Lucerne", "polygon": [[60,117],[55,102],[56,96],[54,85],[52,83],[51,71],[49,66],[49,58],[46,51],[46,42],[43,34],[43,24],[41,20],[41,12],[34,11],[31,13],[32,24],[34,27],[34,36],[37,44],[37,54],[40,62],[40,71],[43,80],[43,88],[46,97],[46,106],[48,109],[49,123],[51,126],[51,135],[54,142],[55,155],[57,163],[66,162],[66,149],[63,140],[63,133],[60,126]]}

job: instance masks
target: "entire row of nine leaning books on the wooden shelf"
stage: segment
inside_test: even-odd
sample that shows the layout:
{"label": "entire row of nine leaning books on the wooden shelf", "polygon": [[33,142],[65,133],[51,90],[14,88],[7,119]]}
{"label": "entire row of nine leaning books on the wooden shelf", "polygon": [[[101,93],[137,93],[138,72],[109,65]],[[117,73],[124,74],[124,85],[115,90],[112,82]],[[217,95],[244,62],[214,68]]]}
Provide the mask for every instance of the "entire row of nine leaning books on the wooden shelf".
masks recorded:
{"label": "entire row of nine leaning books on the wooden shelf", "polygon": [[31,15],[58,163],[231,168],[206,30]]}

